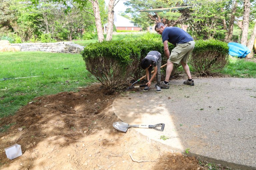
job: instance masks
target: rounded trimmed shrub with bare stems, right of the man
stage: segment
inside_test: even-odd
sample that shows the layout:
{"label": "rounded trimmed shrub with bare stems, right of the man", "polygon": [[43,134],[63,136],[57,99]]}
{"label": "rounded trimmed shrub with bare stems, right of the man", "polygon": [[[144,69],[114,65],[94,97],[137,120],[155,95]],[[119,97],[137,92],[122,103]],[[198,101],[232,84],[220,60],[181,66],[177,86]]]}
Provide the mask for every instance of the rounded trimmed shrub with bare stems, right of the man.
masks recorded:
{"label": "rounded trimmed shrub with bare stems, right of the man", "polygon": [[226,42],[199,40],[190,57],[190,65],[198,75],[211,75],[228,63],[229,47]]}

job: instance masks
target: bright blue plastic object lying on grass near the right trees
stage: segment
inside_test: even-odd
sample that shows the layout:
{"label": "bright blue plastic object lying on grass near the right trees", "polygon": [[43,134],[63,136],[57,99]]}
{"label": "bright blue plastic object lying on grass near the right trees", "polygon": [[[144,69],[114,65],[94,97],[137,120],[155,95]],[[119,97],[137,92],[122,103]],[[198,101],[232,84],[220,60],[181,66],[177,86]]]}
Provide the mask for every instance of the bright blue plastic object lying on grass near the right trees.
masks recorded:
{"label": "bright blue plastic object lying on grass near the right trees", "polygon": [[228,46],[229,46],[229,55],[231,56],[244,58],[247,54],[251,52],[249,48],[247,48],[247,46],[237,42],[229,42]]}

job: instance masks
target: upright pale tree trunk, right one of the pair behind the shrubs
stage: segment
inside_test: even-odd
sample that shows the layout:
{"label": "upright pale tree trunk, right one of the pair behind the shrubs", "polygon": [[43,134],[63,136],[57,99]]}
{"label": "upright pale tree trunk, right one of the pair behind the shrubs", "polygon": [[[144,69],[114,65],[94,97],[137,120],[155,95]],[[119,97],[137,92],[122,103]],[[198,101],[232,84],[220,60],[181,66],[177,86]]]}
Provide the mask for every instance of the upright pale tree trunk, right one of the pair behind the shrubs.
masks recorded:
{"label": "upright pale tree trunk, right one of the pair behind the shrubs", "polygon": [[109,0],[108,3],[108,27],[106,40],[112,40],[113,25],[114,25],[114,4],[115,0]]}

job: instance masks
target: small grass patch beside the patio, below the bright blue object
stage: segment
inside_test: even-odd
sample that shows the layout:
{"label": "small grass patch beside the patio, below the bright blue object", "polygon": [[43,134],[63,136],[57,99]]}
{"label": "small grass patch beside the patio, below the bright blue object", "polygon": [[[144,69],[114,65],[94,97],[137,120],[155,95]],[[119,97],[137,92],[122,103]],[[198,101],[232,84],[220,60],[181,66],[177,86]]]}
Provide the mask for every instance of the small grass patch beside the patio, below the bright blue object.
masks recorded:
{"label": "small grass patch beside the patio, below the bright blue object", "polygon": [[229,74],[232,77],[256,78],[256,62],[230,56],[229,64],[221,71],[221,73]]}

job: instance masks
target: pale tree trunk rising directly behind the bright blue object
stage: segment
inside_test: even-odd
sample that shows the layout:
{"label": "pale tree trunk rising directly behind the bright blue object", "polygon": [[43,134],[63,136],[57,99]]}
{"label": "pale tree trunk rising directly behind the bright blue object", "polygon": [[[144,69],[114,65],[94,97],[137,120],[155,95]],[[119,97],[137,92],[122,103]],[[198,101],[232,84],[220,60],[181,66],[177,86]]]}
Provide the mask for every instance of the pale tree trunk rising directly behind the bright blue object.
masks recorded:
{"label": "pale tree trunk rising directly behind the bright blue object", "polygon": [[242,38],[241,38],[241,42],[240,42],[243,45],[246,45],[246,43],[247,43],[248,28],[249,28],[249,15],[250,15],[250,0],[244,0]]}

